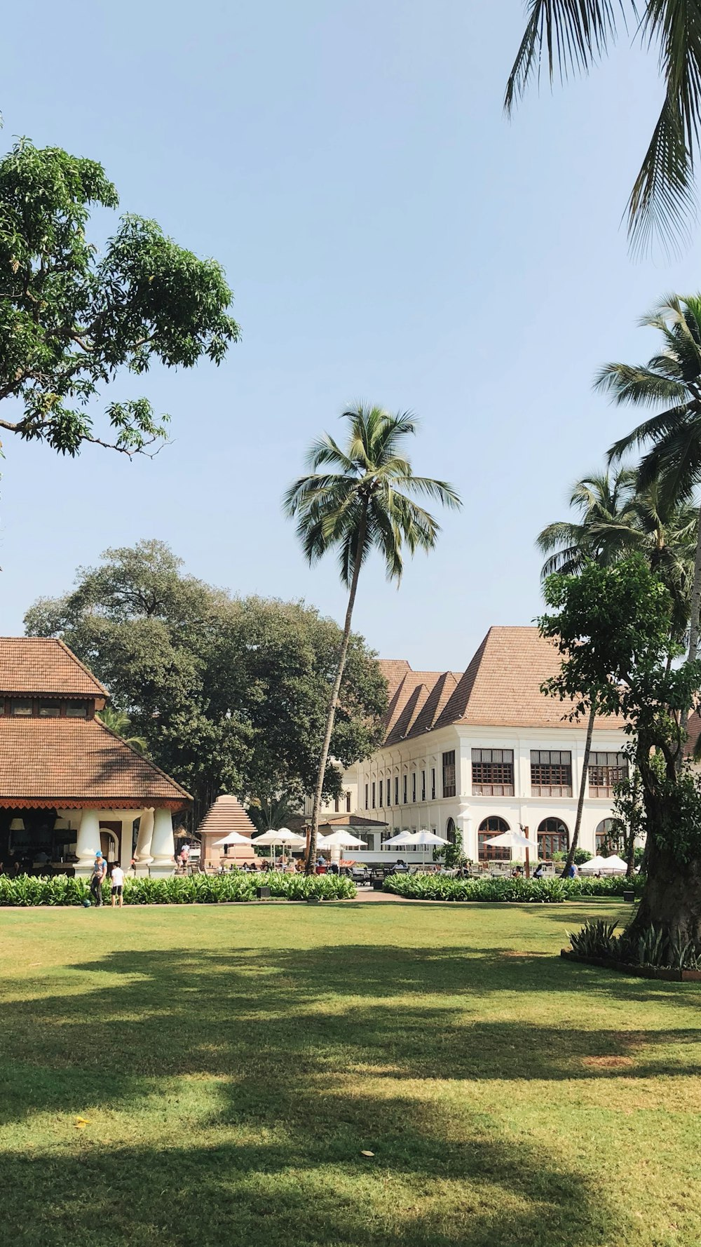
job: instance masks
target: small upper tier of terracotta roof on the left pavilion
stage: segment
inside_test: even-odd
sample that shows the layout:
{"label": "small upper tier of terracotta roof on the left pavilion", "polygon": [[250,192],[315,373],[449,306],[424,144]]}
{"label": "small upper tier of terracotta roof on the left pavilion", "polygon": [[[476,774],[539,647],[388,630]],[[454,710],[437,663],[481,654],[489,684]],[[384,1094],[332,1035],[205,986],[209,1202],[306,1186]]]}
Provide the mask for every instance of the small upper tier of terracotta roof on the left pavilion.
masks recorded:
{"label": "small upper tier of terracotta roof on the left pavilion", "polygon": [[107,690],[55,637],[0,637],[0,693],[107,697]]}

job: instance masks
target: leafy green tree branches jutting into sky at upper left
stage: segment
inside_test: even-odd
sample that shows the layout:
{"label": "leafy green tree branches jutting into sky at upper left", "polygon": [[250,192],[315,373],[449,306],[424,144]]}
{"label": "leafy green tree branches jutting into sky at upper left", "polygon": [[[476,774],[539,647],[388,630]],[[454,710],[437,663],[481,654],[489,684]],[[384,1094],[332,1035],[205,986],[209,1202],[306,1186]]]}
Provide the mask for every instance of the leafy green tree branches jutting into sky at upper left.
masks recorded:
{"label": "leafy green tree branches jutting into sky at upper left", "polygon": [[60,147],[22,138],[0,160],[0,400],[19,407],[0,428],[62,454],[85,441],[145,451],[167,416],[145,398],[111,402],[111,433],[99,435],[91,404],[102,387],[153,360],[218,364],[238,339],[220,264],[155,221],[127,214],[102,251],[89,242],[91,208],[117,203],[101,165]]}

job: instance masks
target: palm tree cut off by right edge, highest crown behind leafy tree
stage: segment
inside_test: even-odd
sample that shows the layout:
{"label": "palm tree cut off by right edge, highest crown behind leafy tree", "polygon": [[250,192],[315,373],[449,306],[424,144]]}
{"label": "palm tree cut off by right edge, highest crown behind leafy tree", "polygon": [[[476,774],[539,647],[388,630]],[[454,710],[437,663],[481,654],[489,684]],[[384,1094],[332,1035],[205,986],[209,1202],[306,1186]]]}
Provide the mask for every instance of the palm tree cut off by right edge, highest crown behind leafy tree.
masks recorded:
{"label": "palm tree cut off by right edge, highest crown behind leafy tree", "polygon": [[[651,443],[639,468],[639,489],[649,490],[656,483],[657,505],[669,514],[675,506],[684,509],[701,484],[701,296],[682,299],[672,294],[644,317],[641,324],[662,334],[660,353],[647,364],[606,364],[595,384],[616,404],[662,407],[627,436],[620,438],[611,446],[609,459],[617,461],[635,446]],[[701,511],[696,530],[690,661],[699,652]]]}

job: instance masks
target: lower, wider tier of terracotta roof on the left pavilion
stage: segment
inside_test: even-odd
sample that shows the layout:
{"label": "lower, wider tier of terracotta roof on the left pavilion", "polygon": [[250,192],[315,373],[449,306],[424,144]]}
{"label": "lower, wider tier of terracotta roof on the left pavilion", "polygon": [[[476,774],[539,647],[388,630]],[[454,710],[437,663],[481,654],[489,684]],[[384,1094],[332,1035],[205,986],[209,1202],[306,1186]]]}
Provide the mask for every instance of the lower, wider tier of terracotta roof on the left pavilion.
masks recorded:
{"label": "lower, wider tier of terracotta roof on the left pavilion", "polygon": [[175,779],[147,762],[99,720],[15,718],[0,715],[0,801],[51,797],[120,798],[152,806],[191,801]]}

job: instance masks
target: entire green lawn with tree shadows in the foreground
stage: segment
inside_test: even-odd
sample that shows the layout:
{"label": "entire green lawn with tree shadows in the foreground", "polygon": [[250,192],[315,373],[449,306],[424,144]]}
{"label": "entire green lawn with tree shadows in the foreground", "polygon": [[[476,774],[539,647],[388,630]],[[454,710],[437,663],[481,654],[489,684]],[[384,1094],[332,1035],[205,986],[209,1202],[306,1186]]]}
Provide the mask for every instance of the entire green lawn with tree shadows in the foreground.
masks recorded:
{"label": "entire green lawn with tree shadows in the foreground", "polygon": [[701,994],[558,958],[619,913],[0,912],[1,1241],[696,1247]]}

